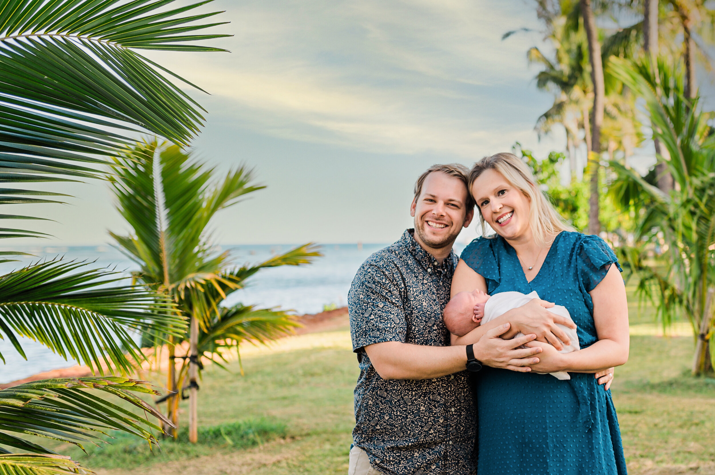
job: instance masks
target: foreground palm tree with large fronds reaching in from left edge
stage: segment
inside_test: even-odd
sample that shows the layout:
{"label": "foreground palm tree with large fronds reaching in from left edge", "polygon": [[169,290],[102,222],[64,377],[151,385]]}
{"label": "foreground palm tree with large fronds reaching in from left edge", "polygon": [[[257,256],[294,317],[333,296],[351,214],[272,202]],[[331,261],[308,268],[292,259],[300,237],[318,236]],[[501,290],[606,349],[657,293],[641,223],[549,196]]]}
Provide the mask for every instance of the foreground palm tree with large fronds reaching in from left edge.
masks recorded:
{"label": "foreground palm tree with large fronds reaching in from left edge", "polygon": [[[206,2],[202,2],[206,3]],[[179,76],[138,51],[223,51],[189,34],[216,24],[198,21],[218,12],[180,16],[201,4],[166,8],[171,0],[0,0],[0,182],[19,186],[105,176],[107,157],[147,131],[186,144],[203,120],[200,106],[174,81]],[[185,81],[184,81],[185,82]],[[191,86],[191,84],[189,84]],[[0,204],[46,203],[39,189],[0,189]],[[0,219],[34,216],[0,214]],[[0,238],[43,236],[0,228]],[[3,251],[2,255],[20,255]],[[9,259],[2,259],[8,261]],[[152,327],[183,334],[185,322],[156,291],[117,286],[124,276],[62,259],[0,276],[0,336],[24,356],[25,336],[93,371],[126,373],[142,359],[129,331]],[[69,459],[26,436],[73,444],[96,440],[102,429],[154,441],[147,416],[164,416],[131,391],[153,392],[124,377],[35,381],[0,391],[0,471],[81,473]],[[145,416],[98,398],[128,401]],[[31,454],[9,454],[19,449]]]}

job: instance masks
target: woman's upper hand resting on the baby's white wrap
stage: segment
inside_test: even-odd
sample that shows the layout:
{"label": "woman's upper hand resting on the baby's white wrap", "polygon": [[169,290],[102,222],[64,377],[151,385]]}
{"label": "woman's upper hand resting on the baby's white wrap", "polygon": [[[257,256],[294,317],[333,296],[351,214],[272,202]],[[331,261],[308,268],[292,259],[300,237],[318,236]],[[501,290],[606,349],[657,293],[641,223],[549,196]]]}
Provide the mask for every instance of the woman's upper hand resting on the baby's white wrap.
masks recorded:
{"label": "woman's upper hand resting on the baby's white wrap", "polygon": [[[512,322],[511,331],[505,337],[521,333],[536,334],[538,341],[551,343],[558,351],[563,349],[563,345],[570,345],[571,339],[565,331],[557,324],[575,329],[576,324],[561,315],[554,314],[550,309],[554,304],[541,299],[531,299],[528,304],[524,304],[517,309],[512,309],[504,315],[508,315],[508,320]],[[563,344],[561,343],[563,341]]]}

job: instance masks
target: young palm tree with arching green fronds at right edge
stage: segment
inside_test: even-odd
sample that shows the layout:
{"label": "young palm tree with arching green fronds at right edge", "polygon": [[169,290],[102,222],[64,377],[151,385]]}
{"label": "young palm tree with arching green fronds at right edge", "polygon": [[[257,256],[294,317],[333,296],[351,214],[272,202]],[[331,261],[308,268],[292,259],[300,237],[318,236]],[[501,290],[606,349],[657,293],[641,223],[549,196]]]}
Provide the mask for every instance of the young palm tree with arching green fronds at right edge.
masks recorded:
{"label": "young palm tree with arching green fronds at right edge", "polygon": [[686,96],[683,75],[666,61],[655,67],[648,58],[617,60],[615,66],[616,74],[646,99],[654,135],[670,157],[659,156],[659,162],[676,184],[665,194],[632,169],[616,166],[620,176],[614,191],[624,205],[645,210],[636,239],[653,242],[663,236],[666,244],[659,266],[644,264],[647,249],[626,249],[624,256],[664,326],[677,314],[691,321],[693,374],[706,374],[715,363],[715,135],[707,124],[714,114],[699,110],[697,97]]}

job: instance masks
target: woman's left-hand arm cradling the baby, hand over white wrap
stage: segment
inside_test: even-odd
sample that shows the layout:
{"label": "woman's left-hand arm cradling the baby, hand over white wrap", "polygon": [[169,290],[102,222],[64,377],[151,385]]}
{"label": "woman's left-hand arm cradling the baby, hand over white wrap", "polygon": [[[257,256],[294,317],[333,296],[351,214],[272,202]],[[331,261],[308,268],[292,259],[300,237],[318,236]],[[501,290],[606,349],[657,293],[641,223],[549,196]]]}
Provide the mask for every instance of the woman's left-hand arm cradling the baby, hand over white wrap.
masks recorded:
{"label": "woman's left-hand arm cradling the baby, hand over white wrap", "polygon": [[[474,269],[468,266],[465,261],[460,259],[452,278],[451,295],[454,296],[455,294],[463,291],[470,292],[474,289],[480,289],[486,293],[486,280],[483,276],[480,276],[474,271]],[[512,338],[519,331],[521,331],[521,333],[525,335],[536,334],[537,341],[548,341],[548,343],[556,346],[557,349],[563,349],[561,341],[565,344],[570,344],[571,341],[568,339],[566,332],[559,328],[556,324],[562,324],[573,328],[576,328],[576,325],[573,324],[573,321],[565,319],[563,316],[556,315],[545,308],[552,306],[553,304],[551,302],[533,299],[528,304],[518,307],[518,309],[507,311],[498,318],[481,324],[464,336],[452,335],[451,343],[453,345],[468,345],[476,343],[490,329],[496,328],[502,324],[511,323],[511,329],[503,335],[504,339]]]}

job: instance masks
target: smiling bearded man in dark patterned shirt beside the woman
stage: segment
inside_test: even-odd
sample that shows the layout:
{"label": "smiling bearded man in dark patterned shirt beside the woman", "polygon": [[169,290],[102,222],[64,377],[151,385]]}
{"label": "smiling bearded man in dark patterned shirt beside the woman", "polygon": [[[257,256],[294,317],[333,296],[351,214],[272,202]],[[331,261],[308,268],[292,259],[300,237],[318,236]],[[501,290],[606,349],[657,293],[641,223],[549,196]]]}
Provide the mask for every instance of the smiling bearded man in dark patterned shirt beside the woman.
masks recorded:
{"label": "smiling bearded man in dark patterned shirt beside the woman", "polygon": [[415,229],[376,252],[358,270],[347,296],[355,387],[354,446],[349,475],[468,475],[475,469],[475,408],[467,384],[481,364],[528,371],[541,348],[518,349],[536,338],[498,336],[450,346],[442,311],[457,264],[452,245],[474,215],[460,164],[435,165],[415,184]]}

